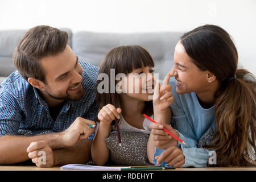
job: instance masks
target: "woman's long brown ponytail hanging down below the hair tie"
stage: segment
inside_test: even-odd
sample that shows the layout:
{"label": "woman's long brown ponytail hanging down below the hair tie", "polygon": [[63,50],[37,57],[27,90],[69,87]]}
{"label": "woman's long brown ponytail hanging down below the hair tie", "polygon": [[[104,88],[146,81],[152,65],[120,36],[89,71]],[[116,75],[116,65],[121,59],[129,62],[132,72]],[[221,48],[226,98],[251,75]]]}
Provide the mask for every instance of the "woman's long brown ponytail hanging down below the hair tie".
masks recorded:
{"label": "woman's long brown ponytail hanging down below the hair tie", "polygon": [[210,146],[218,166],[255,166],[256,81],[245,69],[222,81],[215,104],[216,134]]}

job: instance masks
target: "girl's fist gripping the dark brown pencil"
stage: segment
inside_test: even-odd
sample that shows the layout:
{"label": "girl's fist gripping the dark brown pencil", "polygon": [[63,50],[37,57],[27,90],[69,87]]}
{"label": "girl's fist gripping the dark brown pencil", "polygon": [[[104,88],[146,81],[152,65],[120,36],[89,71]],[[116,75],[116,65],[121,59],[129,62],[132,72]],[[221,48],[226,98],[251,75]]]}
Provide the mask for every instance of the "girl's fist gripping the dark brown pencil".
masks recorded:
{"label": "girl's fist gripping the dark brown pencil", "polygon": [[120,119],[120,113],[121,113],[121,108],[115,109],[115,107],[111,104],[105,105],[102,107],[100,112],[98,113],[98,119],[106,124],[110,125],[115,118]]}

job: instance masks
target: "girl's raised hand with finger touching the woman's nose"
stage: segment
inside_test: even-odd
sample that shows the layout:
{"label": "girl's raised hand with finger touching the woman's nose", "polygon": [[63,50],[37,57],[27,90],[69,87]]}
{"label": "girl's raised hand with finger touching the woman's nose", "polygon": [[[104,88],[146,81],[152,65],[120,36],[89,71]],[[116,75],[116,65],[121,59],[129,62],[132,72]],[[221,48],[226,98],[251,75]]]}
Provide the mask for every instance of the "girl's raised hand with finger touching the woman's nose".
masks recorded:
{"label": "girl's raised hand with finger touching the woman's nose", "polygon": [[162,113],[167,107],[169,107],[172,102],[174,102],[174,97],[172,97],[171,89],[172,86],[168,85],[171,78],[170,72],[167,73],[164,78],[163,85],[160,87],[160,83],[156,83],[156,88],[153,97],[154,111]]}

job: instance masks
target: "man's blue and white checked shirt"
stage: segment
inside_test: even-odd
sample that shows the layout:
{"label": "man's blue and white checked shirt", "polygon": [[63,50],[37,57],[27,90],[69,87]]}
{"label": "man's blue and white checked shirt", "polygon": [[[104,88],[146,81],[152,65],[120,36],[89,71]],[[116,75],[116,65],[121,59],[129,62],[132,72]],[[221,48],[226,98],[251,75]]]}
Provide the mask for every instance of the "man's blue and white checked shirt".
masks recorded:
{"label": "man's blue and white checked shirt", "polygon": [[[0,137],[3,135],[36,135],[67,129],[77,117],[97,117],[96,81],[98,67],[79,61],[83,69],[84,96],[79,101],[65,101],[54,121],[47,103],[18,71],[0,85]],[[93,139],[95,131],[88,139]]]}

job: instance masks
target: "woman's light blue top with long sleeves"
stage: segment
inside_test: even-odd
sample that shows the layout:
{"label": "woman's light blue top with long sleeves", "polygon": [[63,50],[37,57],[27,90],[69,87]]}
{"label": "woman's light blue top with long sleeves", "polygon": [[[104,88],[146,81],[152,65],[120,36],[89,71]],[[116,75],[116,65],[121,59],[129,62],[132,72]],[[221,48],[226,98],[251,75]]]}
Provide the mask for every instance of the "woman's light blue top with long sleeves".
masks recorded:
{"label": "woman's light blue top with long sleeves", "polygon": [[[196,93],[177,94],[176,80],[171,77],[169,84],[172,85],[174,102],[170,105],[172,110],[171,125],[179,132],[179,138],[186,145],[178,142],[185,156],[185,164],[182,167],[207,167],[209,151],[199,148],[197,145],[200,138],[212,127],[214,130],[214,106],[204,109],[197,99]],[[155,156],[162,154],[164,150],[156,148]],[[166,166],[164,161],[162,166]]]}

